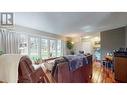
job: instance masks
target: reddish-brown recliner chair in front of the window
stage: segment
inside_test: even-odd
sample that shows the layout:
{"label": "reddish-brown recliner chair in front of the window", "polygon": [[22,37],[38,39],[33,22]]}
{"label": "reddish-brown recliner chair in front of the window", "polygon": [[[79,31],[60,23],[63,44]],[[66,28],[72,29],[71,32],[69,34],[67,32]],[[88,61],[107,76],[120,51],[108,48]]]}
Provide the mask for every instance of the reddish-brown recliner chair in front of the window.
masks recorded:
{"label": "reddish-brown recliner chair in front of the window", "polygon": [[19,61],[18,83],[44,83],[48,79],[42,68],[34,70],[29,57],[23,56]]}

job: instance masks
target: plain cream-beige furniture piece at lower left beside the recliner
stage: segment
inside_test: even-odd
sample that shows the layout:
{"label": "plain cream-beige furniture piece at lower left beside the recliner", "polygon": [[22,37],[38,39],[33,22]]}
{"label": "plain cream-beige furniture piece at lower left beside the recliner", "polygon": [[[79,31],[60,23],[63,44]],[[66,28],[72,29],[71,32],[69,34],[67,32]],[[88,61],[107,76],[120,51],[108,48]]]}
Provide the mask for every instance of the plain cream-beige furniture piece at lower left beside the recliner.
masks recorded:
{"label": "plain cream-beige furniture piece at lower left beside the recliner", "polygon": [[17,82],[20,58],[21,55],[19,54],[3,54],[0,56],[0,81]]}

